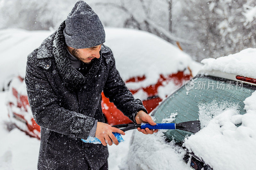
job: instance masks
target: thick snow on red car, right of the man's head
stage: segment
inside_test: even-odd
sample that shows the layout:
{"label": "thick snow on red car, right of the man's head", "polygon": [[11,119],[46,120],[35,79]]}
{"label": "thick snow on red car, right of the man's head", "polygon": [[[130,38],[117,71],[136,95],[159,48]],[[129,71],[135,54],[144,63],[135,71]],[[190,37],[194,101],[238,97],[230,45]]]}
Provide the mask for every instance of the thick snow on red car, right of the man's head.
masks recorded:
{"label": "thick snow on red car, right of the man's head", "polygon": [[112,49],[118,63],[116,68],[124,80],[145,75],[145,80],[135,84],[139,87],[156,84],[160,74],[184,71],[192,62],[176,46],[145,31],[109,28],[105,44]]}

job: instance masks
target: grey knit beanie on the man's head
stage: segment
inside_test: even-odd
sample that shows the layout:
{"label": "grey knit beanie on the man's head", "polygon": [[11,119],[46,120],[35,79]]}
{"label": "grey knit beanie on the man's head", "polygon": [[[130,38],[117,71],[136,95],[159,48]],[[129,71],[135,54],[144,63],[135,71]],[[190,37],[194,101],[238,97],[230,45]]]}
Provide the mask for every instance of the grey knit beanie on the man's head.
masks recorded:
{"label": "grey knit beanie on the man's head", "polygon": [[90,48],[105,42],[105,30],[98,15],[83,0],[76,2],[65,24],[65,41],[72,48]]}

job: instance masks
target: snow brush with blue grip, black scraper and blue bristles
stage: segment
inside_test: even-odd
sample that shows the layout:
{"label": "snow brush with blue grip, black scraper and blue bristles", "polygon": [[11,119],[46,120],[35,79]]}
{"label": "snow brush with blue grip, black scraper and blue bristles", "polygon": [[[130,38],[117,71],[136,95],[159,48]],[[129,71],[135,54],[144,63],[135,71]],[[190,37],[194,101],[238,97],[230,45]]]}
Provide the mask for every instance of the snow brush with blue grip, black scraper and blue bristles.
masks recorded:
{"label": "snow brush with blue grip, black scraper and blue bristles", "polygon": [[[112,127],[118,128],[122,131],[128,131],[128,130],[137,129],[137,128],[140,128],[140,129],[148,128],[148,129],[179,129],[182,131],[189,131],[192,133],[196,133],[201,129],[199,120],[182,122],[182,123],[178,123],[178,124],[175,124],[175,123],[163,123],[163,124],[156,124],[156,125],[150,125],[150,124],[146,124],[146,123],[117,124]],[[124,142],[124,139],[122,138],[120,133],[113,132],[113,134],[115,135],[118,142]],[[93,138],[93,137],[89,136],[86,140],[85,139],[81,139],[81,140],[85,143],[101,144],[100,140],[96,137]]]}

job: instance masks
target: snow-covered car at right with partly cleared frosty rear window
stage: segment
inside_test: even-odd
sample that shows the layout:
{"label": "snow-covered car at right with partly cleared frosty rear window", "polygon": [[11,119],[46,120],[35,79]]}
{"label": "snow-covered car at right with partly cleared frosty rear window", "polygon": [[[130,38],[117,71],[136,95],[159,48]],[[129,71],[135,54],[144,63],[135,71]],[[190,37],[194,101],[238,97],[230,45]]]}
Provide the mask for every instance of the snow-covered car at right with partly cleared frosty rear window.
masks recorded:
{"label": "snow-covered car at right with partly cleared frosty rear window", "polygon": [[[159,134],[153,135],[136,131],[124,166],[134,169],[138,166],[142,169],[190,169],[183,162],[184,151],[174,145],[174,141],[180,139],[180,134],[185,138],[182,142],[188,152],[194,152],[213,169],[253,169],[256,159],[256,84],[242,84],[241,81],[232,84],[227,77],[209,74],[217,72],[215,76],[223,73],[231,77],[236,74],[255,77],[252,74],[255,68],[251,67],[251,63],[255,62],[255,52],[255,49],[249,48],[226,58],[204,59],[203,68],[208,71],[205,72],[207,74],[198,75],[192,81],[195,85],[207,81],[205,89],[200,89],[202,86],[199,89],[196,86],[195,89],[183,86],[152,112],[156,123],[180,123],[182,117],[186,120],[194,116],[201,121],[202,129],[187,137],[186,133],[179,130],[159,130]],[[220,88],[222,81],[226,86]],[[209,88],[208,82],[214,85]],[[166,143],[165,139],[170,138],[175,140]],[[151,159],[147,159],[146,155]]]}

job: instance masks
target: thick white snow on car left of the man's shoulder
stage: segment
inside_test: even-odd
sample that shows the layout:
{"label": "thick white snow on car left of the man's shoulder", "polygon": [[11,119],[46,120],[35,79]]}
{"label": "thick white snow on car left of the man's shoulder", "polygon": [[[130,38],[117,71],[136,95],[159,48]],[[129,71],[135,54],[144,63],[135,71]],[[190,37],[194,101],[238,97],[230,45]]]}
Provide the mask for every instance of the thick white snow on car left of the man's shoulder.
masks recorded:
{"label": "thick white snow on car left of the man's shoulder", "polygon": [[0,88],[18,75],[25,77],[27,56],[51,34],[50,31],[0,30]]}

